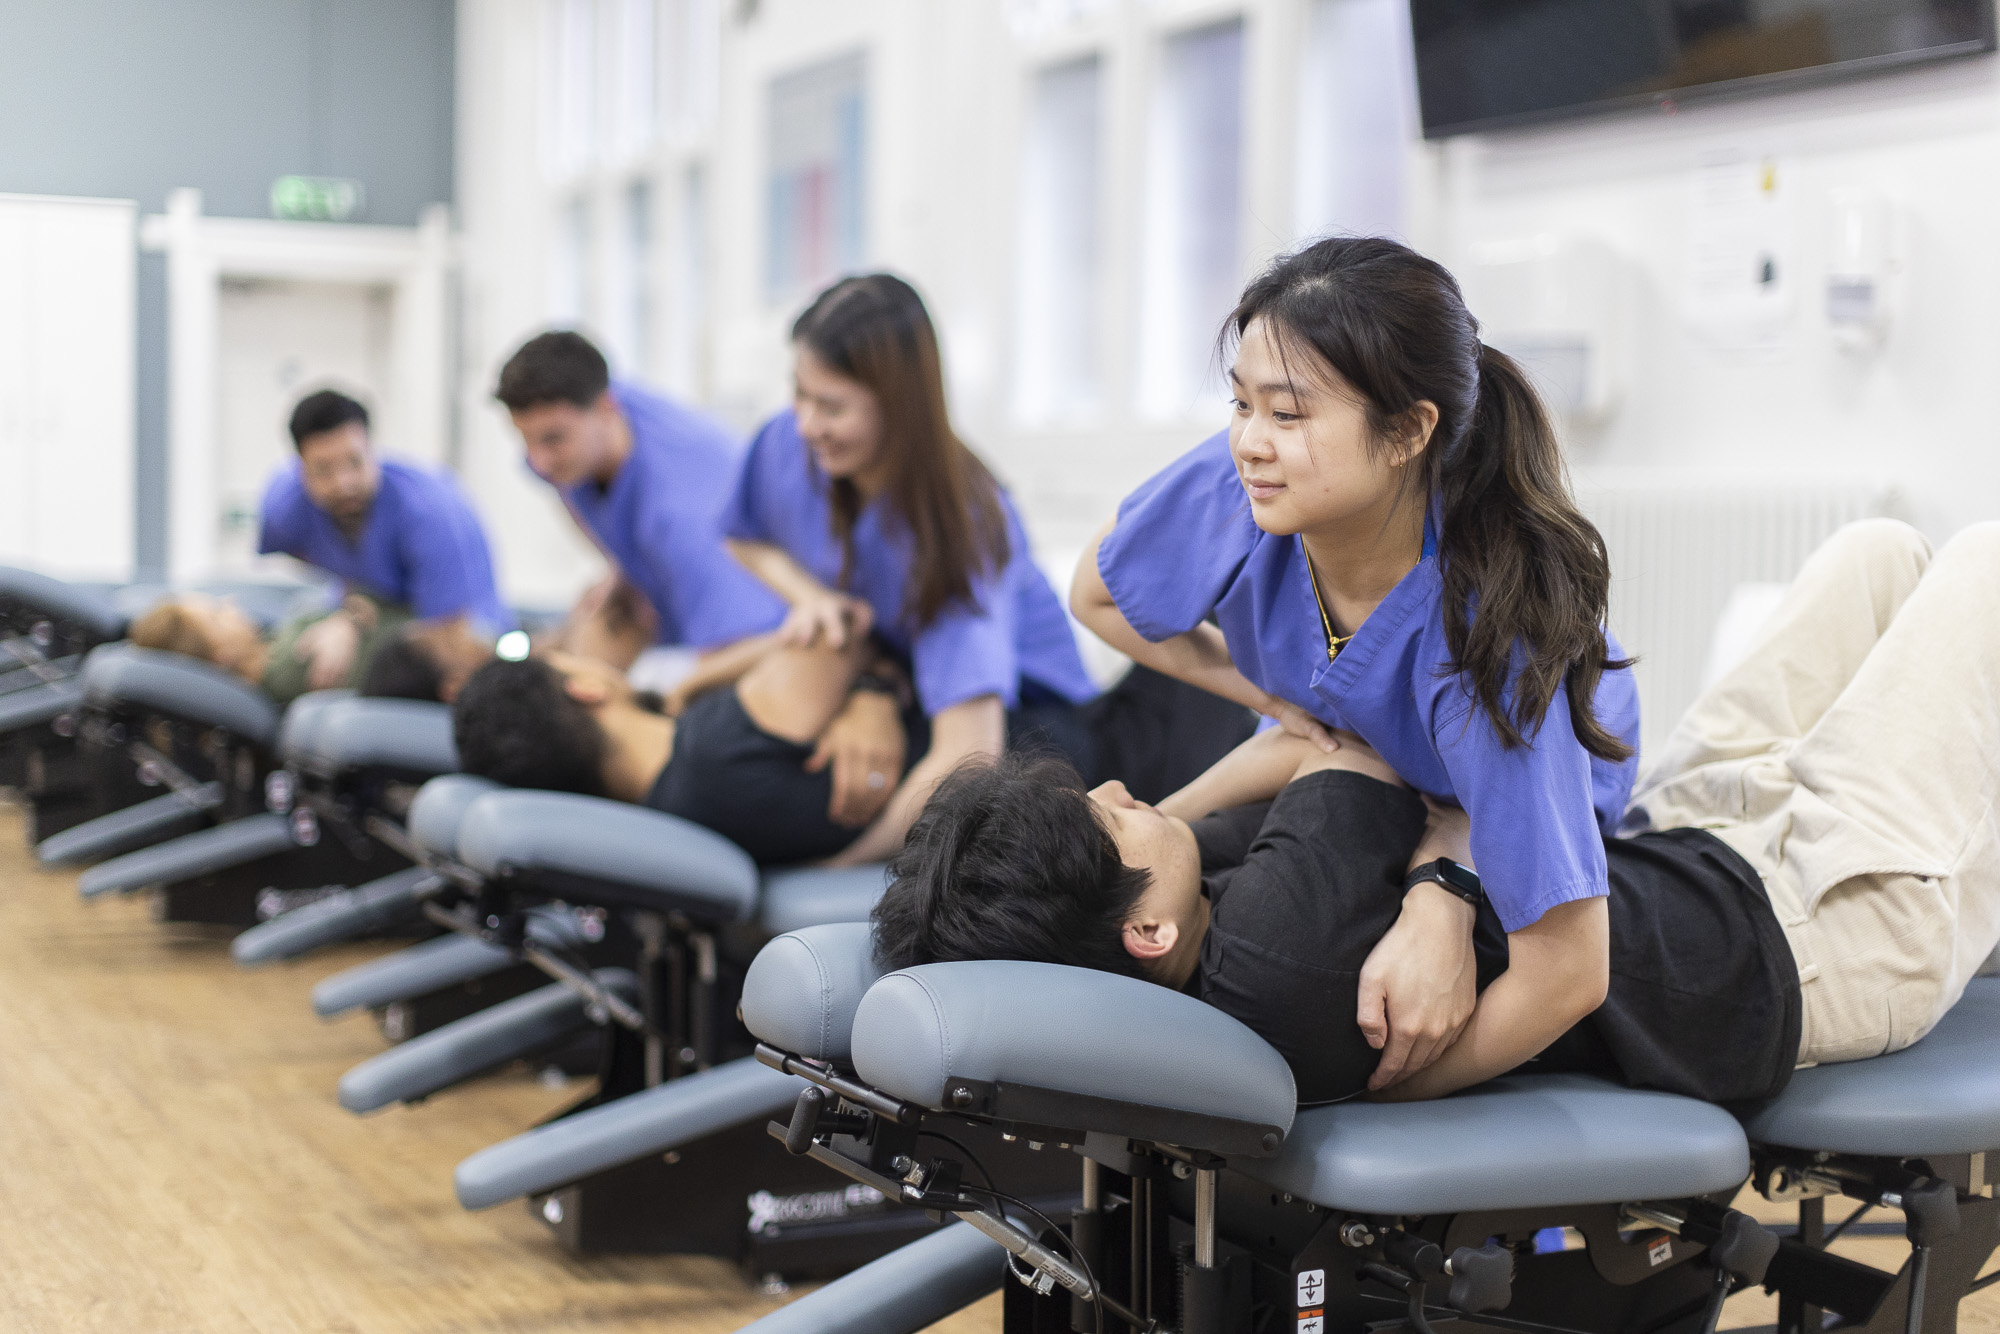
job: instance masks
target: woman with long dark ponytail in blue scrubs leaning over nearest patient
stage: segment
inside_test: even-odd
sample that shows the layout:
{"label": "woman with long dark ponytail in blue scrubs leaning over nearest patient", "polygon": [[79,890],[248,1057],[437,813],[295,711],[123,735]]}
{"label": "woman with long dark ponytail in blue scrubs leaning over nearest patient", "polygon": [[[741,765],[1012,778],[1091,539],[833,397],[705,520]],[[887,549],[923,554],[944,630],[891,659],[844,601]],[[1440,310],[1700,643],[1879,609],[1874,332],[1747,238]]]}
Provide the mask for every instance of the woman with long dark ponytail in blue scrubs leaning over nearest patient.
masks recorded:
{"label": "woman with long dark ponytail in blue scrubs leaning over nearest patient", "polygon": [[1322,748],[1354,732],[1464,808],[1512,966],[1474,1008],[1472,906],[1418,884],[1360,1002],[1370,1040],[1408,1052],[1376,1088],[1430,1062],[1408,1088],[1460,1088],[1604,998],[1602,840],[1638,742],[1604,544],[1442,266],[1322,240],[1254,280],[1226,332],[1228,432],[1124,500],[1072,606],[1138,662]]}

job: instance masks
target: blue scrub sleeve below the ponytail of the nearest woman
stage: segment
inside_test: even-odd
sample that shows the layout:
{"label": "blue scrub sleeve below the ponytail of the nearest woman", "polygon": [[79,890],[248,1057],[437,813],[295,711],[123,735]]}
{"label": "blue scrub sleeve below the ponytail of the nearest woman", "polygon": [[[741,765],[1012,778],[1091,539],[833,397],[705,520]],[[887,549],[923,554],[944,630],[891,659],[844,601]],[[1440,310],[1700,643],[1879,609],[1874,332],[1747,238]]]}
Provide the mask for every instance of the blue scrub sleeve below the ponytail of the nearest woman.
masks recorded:
{"label": "blue scrub sleeve below the ponytail of the nearest woman", "polygon": [[1464,688],[1444,698],[1452,708],[1440,710],[1438,758],[1472,816],[1472,866],[1500,926],[1514,932],[1558,904],[1610,894],[1590,752],[1570,726],[1568,690],[1556,690],[1542,726],[1512,750]]}

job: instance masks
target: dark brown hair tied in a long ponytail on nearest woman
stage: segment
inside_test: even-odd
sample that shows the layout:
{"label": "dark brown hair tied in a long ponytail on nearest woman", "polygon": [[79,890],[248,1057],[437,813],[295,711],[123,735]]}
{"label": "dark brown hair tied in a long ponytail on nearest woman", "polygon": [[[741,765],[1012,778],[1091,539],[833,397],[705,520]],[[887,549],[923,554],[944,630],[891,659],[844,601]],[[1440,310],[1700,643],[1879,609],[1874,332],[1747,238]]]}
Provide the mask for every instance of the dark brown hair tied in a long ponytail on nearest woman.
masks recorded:
{"label": "dark brown hair tied in a long ponytail on nearest woman", "polygon": [[1440,510],[1450,670],[1464,674],[1500,742],[1526,744],[1566,684],[1584,750],[1628,758],[1632,748],[1596,714],[1602,674],[1630,666],[1610,658],[1604,638],[1604,538],[1570,498],[1534,386],[1480,342],[1452,274],[1392,240],[1322,240],[1264,270],[1224,338],[1242,338],[1252,320],[1266,322],[1280,350],[1310,350],[1362,396],[1376,450],[1418,402],[1436,404],[1438,424],[1404,476]]}

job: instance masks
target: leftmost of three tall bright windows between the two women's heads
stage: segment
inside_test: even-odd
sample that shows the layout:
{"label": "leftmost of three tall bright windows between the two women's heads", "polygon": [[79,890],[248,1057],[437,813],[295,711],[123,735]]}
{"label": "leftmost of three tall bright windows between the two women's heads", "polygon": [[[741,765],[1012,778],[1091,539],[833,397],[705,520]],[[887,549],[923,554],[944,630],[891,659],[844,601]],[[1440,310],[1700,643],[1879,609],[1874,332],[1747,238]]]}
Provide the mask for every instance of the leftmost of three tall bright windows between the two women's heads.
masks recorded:
{"label": "leftmost of three tall bright windows between the two women's heads", "polygon": [[1098,406],[1100,62],[1034,78],[1022,160],[1014,406],[1048,422]]}

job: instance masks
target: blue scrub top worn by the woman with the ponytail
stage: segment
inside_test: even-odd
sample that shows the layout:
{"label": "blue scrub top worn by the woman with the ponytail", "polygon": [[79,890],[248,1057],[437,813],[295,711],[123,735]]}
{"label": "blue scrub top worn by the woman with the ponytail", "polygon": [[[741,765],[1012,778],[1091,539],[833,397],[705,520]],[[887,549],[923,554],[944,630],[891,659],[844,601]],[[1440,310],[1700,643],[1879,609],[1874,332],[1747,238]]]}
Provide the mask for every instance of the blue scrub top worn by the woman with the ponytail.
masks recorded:
{"label": "blue scrub top worn by the woman with the ponytail", "polygon": [[[1358,734],[1412,788],[1464,806],[1472,860],[1506,930],[1608,892],[1604,838],[1638,774],[1632,672],[1600,678],[1596,714],[1634,758],[1614,764],[1584,750],[1566,688],[1528,744],[1506,750],[1464,678],[1444,670],[1452,654],[1428,540],[1416,568],[1328,662],[1298,538],[1256,526],[1222,432],[1126,496],[1098,548],[1098,574],[1148,640],[1212,616],[1244,676]],[[1616,640],[1610,656],[1624,656]]]}

